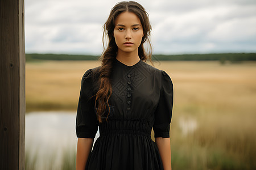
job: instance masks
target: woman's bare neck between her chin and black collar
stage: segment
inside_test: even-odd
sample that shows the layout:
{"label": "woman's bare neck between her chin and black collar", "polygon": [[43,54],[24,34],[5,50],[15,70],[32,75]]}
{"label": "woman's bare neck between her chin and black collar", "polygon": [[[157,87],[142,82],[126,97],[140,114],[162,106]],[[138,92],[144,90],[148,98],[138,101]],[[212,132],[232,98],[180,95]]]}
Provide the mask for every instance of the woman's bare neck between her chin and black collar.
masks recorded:
{"label": "woman's bare neck between her chin and black collar", "polygon": [[139,54],[138,50],[131,53],[123,52],[122,50],[118,49],[117,52],[117,60],[124,63],[127,66],[133,66],[135,63],[139,62]]}

